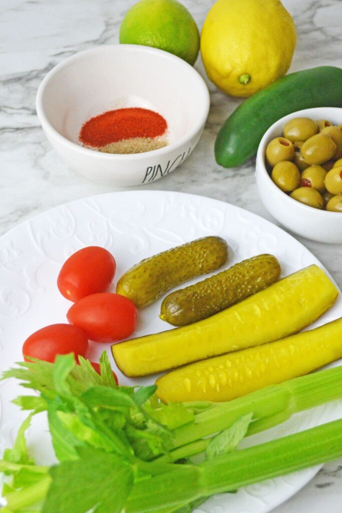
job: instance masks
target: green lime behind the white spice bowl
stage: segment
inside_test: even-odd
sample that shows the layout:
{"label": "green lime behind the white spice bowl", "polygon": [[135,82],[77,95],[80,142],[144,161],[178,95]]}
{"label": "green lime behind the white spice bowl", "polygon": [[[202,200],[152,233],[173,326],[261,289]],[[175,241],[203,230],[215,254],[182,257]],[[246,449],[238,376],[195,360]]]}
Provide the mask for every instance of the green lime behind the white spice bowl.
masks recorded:
{"label": "green lime behind the white spice bowl", "polygon": [[191,65],[199,51],[197,25],[176,0],[142,0],[133,5],[120,26],[119,40],[166,50]]}

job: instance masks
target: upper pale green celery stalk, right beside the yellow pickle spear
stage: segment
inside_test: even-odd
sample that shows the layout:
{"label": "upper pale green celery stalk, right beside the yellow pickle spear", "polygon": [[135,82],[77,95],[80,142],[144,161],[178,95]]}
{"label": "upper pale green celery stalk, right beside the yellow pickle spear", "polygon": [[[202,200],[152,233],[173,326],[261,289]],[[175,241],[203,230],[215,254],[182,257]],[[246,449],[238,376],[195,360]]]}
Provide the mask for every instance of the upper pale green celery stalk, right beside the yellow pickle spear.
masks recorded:
{"label": "upper pale green celery stalk, right beside the yellow pickle spear", "polygon": [[[244,397],[209,407],[195,416],[195,424],[174,429],[174,448],[226,429],[239,417],[253,411],[248,434],[284,422],[293,413],[319,406],[342,396],[342,367],[271,385]],[[185,403],[187,406],[187,403]],[[191,403],[194,406],[194,403]]]}

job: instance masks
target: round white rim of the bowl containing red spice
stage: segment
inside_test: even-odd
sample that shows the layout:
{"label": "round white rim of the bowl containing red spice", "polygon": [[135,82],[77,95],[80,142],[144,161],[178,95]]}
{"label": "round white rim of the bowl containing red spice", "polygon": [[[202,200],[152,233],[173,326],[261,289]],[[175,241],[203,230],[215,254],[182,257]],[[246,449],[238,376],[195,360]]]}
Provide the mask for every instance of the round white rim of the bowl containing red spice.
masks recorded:
{"label": "round white rim of the bowl containing red spice", "polygon": [[[45,114],[45,110],[43,108],[43,96],[46,90],[47,85],[49,84],[51,78],[53,78],[57,73],[59,73],[61,70],[67,68],[72,64],[74,61],[78,61],[79,58],[83,58],[86,55],[96,54],[98,52],[111,52],[111,51],[124,51],[124,52],[133,52],[138,51],[142,53],[150,53],[152,55],[160,55],[164,58],[167,58],[170,61],[174,61],[178,63],[179,66],[183,66],[183,68],[187,68],[188,70],[192,70],[194,73],[195,80],[198,83],[199,90],[202,90],[204,102],[202,101],[199,104],[199,109],[202,110],[202,113],[200,114],[199,120],[195,123],[195,125],[185,134],[183,137],[180,137],[177,141],[175,141],[172,144],[169,144],[167,146],[164,146],[163,148],[158,148],[156,150],[150,150],[145,151],[142,153],[104,153],[97,150],[92,150],[89,148],[86,148],[84,146],[78,145],[76,143],[73,143],[72,141],[69,141],[67,137],[59,133],[48,121],[47,116]],[[65,146],[69,147],[70,149],[80,151],[84,155],[88,155],[90,157],[97,157],[99,159],[103,160],[112,160],[112,161],[129,161],[129,160],[139,160],[145,157],[149,157],[153,154],[153,156],[162,156],[165,155],[173,150],[176,150],[180,146],[183,146],[187,141],[191,140],[192,137],[198,132],[201,127],[204,127],[207,117],[209,114],[209,108],[210,108],[210,94],[208,87],[204,81],[204,78],[198,73],[198,71],[188,64],[186,61],[184,61],[182,58],[177,57],[176,55],[173,55],[170,52],[166,52],[165,50],[159,50],[158,48],[153,48],[150,46],[143,46],[143,45],[129,45],[129,44],[116,44],[116,45],[98,45],[92,48],[88,48],[87,50],[82,50],[80,52],[76,52],[70,57],[67,57],[64,61],[61,63],[58,63],[56,66],[54,66],[43,78],[41,84],[39,84],[37,94],[36,94],[36,102],[35,102],[36,112],[38,116],[38,120],[42,125],[42,128],[44,130],[50,131],[53,136],[59,141],[59,143],[64,144]]]}

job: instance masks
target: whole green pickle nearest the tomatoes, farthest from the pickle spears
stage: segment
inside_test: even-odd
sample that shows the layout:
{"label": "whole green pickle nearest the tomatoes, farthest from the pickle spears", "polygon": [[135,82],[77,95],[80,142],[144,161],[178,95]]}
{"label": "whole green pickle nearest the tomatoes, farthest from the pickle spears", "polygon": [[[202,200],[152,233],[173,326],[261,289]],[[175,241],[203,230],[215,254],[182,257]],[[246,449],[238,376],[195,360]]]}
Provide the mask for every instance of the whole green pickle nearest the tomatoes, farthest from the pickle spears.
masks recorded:
{"label": "whole green pickle nearest the tomatoes, farthest from the pickle spears", "polygon": [[137,307],[147,306],[179,283],[219,269],[227,260],[228,245],[222,238],[197,239],[131,267],[117,282],[116,292]]}

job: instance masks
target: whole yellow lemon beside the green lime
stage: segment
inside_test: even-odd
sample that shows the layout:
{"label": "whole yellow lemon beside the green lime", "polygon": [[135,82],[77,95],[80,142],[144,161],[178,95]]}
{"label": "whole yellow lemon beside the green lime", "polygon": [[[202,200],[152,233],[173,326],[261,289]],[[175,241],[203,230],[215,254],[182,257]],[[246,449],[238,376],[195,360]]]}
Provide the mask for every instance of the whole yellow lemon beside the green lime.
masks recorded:
{"label": "whole yellow lemon beside the green lime", "polygon": [[279,0],[218,0],[200,37],[209,79],[232,96],[250,96],[285,75],[295,46],[293,19]]}

